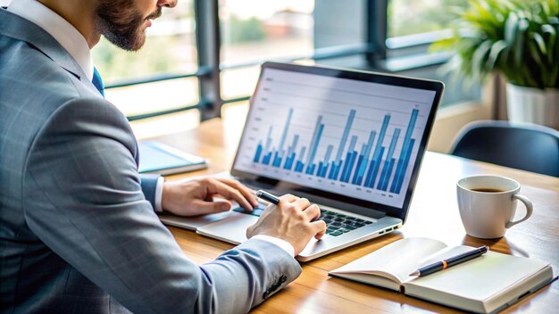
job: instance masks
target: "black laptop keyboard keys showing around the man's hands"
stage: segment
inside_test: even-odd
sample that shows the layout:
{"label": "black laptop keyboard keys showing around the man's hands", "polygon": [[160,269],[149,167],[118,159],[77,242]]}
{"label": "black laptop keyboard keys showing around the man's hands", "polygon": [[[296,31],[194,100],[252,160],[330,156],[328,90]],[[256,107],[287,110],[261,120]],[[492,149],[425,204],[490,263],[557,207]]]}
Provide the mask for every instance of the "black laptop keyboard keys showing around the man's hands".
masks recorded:
{"label": "black laptop keyboard keys showing around the man's hands", "polygon": [[[237,211],[243,214],[253,215],[260,217],[263,211],[266,209],[265,204],[259,203],[258,207],[253,211],[245,211],[244,208],[238,207],[233,211]],[[341,236],[357,228],[371,225],[372,221],[359,219],[352,216],[347,216],[334,211],[324,211],[321,210],[321,220],[326,222],[326,234],[330,236]]]}

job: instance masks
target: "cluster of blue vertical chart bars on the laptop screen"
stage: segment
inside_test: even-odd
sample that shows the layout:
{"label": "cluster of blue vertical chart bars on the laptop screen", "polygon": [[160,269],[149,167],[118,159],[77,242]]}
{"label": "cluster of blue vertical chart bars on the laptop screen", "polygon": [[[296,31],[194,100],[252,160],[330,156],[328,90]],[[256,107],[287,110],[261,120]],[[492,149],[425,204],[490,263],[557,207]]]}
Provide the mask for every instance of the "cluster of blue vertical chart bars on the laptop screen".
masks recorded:
{"label": "cluster of blue vertical chart bars on the laptop screen", "polygon": [[[400,139],[400,128],[395,128],[388,147],[382,146],[390,115],[386,114],[380,130],[371,130],[366,144],[363,143],[361,150],[357,150],[355,143],[358,136],[351,136],[351,141],[347,145],[347,136],[355,120],[355,110],[349,112],[343,136],[340,138],[339,145],[328,145],[323,158],[319,161],[316,152],[321,143],[321,136],[324,134],[325,125],[321,123],[322,116],[318,117],[313,130],[313,137],[308,145],[299,144],[299,134],[294,134],[291,144],[284,148],[286,136],[290,125],[293,109],[289,109],[288,120],[282,130],[279,145],[272,146],[271,138],[272,127],[269,128],[268,136],[261,140],[256,146],[254,162],[263,165],[271,165],[278,169],[293,170],[298,173],[316,176],[318,178],[329,178],[339,182],[351,183],[355,186],[366,186],[376,188],[381,191],[388,191],[388,182],[391,182],[389,192],[399,194],[402,188],[405,171],[410,160],[415,139],[412,138],[412,130],[417,119],[417,109],[413,109],[408,126],[405,130],[405,137],[400,149],[399,157],[394,155],[398,140]],[[377,145],[373,147],[375,136],[379,134]],[[265,143],[265,144],[264,144]],[[307,158],[305,159],[305,153]],[[347,147],[347,148],[346,148]],[[386,155],[385,150],[388,148]],[[332,152],[336,150],[336,157]],[[373,152],[371,154],[371,152]],[[332,158],[333,157],[333,158]],[[382,171],[379,171],[382,166]]]}

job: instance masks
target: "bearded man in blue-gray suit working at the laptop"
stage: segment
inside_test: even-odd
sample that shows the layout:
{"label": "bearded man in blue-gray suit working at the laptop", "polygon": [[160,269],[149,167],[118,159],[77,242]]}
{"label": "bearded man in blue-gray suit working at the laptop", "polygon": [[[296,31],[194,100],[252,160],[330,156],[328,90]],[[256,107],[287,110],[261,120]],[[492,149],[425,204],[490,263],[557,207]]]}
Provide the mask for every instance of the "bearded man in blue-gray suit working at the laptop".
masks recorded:
{"label": "bearded man in blue-gray suit working at the laptop", "polygon": [[[176,0],[13,0],[0,9],[0,311],[246,312],[301,272],[323,221],[285,195],[246,243],[197,266],[154,210],[246,208],[236,181],[138,175],[126,118],[104,100],[89,54],[101,35],[138,50]],[[210,201],[208,201],[210,200]]]}

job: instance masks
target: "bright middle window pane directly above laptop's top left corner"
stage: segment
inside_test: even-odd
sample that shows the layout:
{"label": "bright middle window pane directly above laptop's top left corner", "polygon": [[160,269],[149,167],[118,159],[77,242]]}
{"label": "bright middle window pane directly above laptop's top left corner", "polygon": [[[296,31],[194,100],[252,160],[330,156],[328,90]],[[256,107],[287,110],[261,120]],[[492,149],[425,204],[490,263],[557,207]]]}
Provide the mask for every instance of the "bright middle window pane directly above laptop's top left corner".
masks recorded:
{"label": "bright middle window pane directly above laptop's top left corner", "polygon": [[313,8],[313,0],[222,1],[222,98],[250,95],[263,60],[313,54]]}

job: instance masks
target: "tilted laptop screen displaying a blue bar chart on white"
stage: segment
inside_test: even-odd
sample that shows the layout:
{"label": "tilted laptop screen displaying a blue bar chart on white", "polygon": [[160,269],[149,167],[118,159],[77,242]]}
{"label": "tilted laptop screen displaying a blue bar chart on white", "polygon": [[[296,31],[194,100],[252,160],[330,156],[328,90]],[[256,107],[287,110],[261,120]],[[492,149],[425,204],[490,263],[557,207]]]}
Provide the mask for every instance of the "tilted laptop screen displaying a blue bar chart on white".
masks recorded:
{"label": "tilted laptop screen displaying a blue bar chart on white", "polygon": [[233,169],[402,208],[436,95],[263,67]]}

